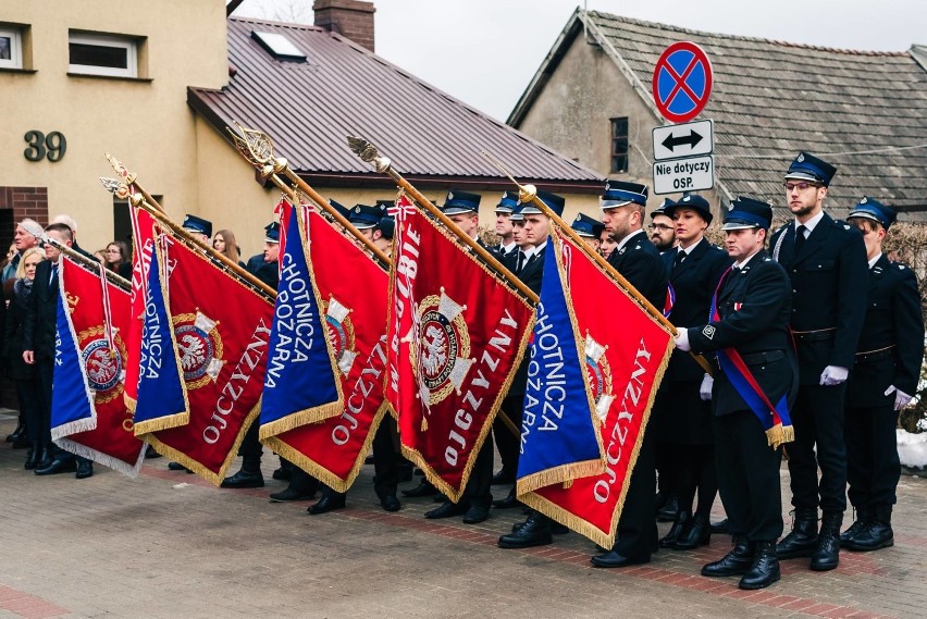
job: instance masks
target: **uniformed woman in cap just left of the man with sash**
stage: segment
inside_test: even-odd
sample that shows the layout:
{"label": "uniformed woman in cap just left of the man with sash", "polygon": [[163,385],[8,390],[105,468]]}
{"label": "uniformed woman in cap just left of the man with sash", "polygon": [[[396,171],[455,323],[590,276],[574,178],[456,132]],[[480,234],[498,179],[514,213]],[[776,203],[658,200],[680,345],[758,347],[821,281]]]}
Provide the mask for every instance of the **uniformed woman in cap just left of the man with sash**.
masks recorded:
{"label": "uniformed woman in cap just left of the man with sash", "polygon": [[[675,299],[667,318],[672,324],[705,321],[712,296],[721,274],[731,264],[727,251],[705,238],[712,210],[701,196],[687,195],[663,207],[676,225],[679,242],[663,253]],[[691,550],[704,546],[712,536],[710,513],[718,491],[712,434],[712,377],[691,355],[675,350],[654,400],[651,423],[657,433],[658,451],[672,454],[675,481],[669,492],[678,499],[679,511],[660,547]],[[695,492],[699,507],[692,509]]]}

